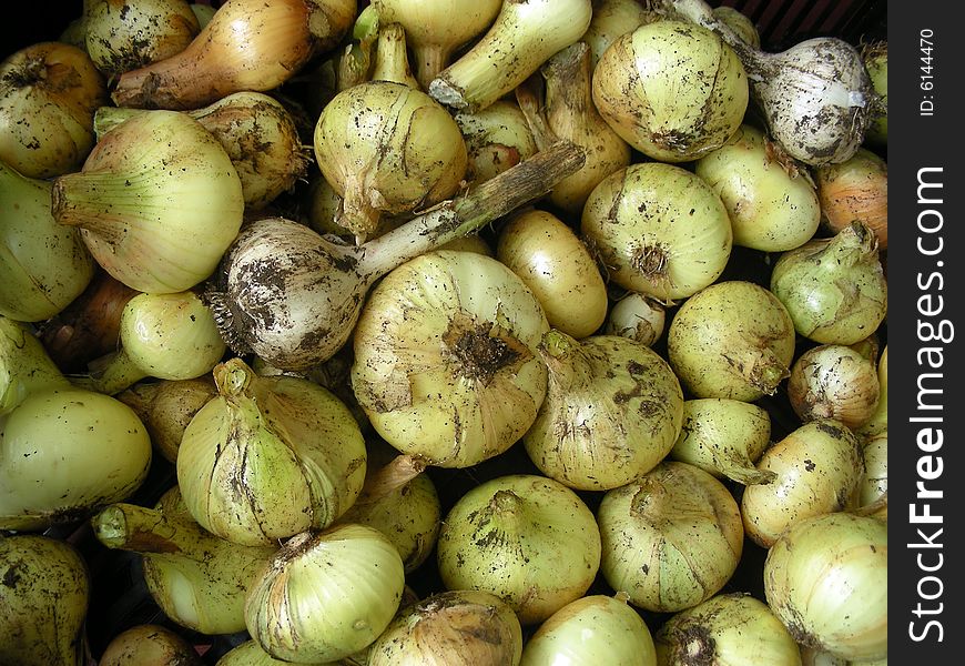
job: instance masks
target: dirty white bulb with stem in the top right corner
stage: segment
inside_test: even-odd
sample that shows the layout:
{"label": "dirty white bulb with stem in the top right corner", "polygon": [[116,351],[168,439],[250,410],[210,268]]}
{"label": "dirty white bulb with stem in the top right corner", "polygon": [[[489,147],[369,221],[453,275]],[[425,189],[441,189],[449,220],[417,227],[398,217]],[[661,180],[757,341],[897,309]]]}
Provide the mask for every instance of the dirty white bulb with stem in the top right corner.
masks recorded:
{"label": "dirty white bulb with stem in the top right corner", "polygon": [[764,53],[715,18],[704,0],[669,4],[720,34],[740,56],[768,131],[788,154],[811,165],[854,154],[864,141],[875,92],[853,46],[817,37],[781,53]]}

